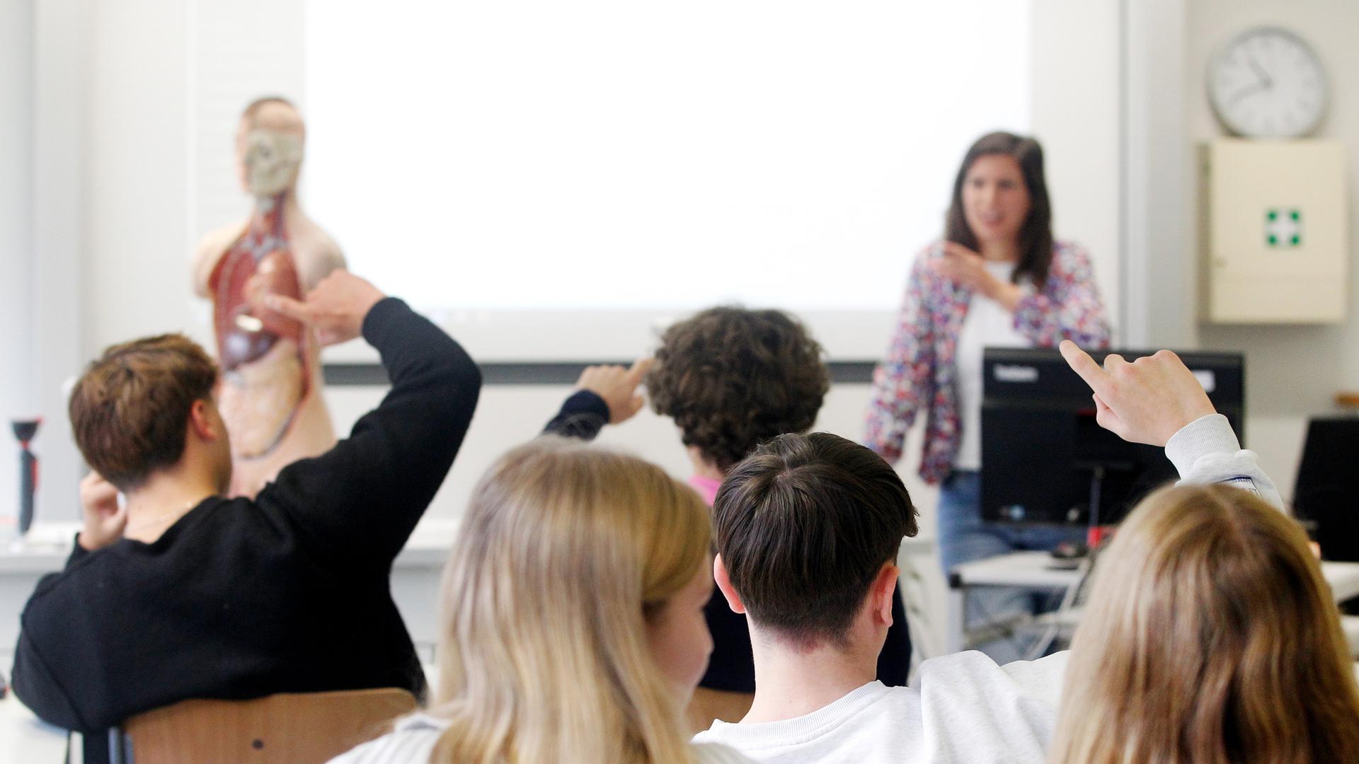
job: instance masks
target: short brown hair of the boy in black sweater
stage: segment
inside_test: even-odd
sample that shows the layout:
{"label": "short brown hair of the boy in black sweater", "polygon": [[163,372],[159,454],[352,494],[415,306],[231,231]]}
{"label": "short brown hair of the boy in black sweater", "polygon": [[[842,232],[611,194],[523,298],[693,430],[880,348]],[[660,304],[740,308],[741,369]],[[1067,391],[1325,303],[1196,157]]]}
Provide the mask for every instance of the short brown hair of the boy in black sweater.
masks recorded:
{"label": "short brown hair of the boy in black sweater", "polygon": [[120,491],[140,488],[183,455],[189,411],[216,382],[217,364],[183,334],[113,345],[71,392],[80,455]]}

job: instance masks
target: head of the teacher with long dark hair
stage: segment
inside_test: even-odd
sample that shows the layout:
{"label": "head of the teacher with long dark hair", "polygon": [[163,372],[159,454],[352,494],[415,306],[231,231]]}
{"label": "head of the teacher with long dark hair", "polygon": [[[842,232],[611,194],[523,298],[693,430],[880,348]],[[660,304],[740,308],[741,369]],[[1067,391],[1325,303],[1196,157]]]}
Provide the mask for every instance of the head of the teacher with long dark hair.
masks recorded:
{"label": "head of the teacher with long dark hair", "polygon": [[1038,141],[1004,132],[977,139],[958,167],[945,228],[946,239],[978,251],[1018,246],[1015,279],[1041,287],[1052,264],[1052,203]]}

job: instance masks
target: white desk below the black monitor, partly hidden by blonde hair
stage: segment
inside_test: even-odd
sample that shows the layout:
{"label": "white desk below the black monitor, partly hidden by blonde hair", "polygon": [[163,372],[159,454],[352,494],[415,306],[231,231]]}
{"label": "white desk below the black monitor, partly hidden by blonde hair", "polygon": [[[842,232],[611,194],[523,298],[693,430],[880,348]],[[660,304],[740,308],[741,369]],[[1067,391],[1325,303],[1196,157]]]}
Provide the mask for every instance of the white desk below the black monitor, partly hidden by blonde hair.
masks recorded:
{"label": "white desk below the black monitor, partly hidden by blonde hair", "polygon": [[[949,574],[949,620],[945,647],[949,653],[972,644],[965,623],[968,590],[974,586],[1012,586],[1065,591],[1080,579],[1080,571],[1053,568],[1048,552],[1014,552],[957,566]],[[1336,602],[1359,597],[1359,563],[1321,563]]]}

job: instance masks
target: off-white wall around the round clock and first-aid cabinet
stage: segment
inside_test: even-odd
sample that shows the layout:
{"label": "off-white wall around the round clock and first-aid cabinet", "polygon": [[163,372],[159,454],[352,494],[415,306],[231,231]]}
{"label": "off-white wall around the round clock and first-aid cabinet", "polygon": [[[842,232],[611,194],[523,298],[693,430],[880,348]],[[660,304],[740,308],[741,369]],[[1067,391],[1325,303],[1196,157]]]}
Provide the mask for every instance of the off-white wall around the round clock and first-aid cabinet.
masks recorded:
{"label": "off-white wall around the round clock and first-aid cabinet", "polygon": [[[1359,3],[1341,0],[1195,0],[1186,4],[1182,103],[1189,145],[1223,135],[1204,92],[1208,58],[1237,33],[1256,24],[1277,24],[1307,39],[1330,79],[1330,109],[1318,137],[1343,141],[1349,152],[1351,184],[1359,173]],[[1189,188],[1186,213],[1193,215],[1196,188]],[[1190,218],[1193,219],[1193,218]],[[1351,193],[1351,257],[1359,254],[1354,231],[1359,197]],[[1185,231],[1193,242],[1193,232]],[[1185,250],[1186,258],[1196,250]],[[1196,277],[1197,271],[1190,277]],[[1291,496],[1306,420],[1335,413],[1333,396],[1359,389],[1359,311],[1354,294],[1359,269],[1351,268],[1349,317],[1329,326],[1223,326],[1200,324],[1204,348],[1246,352],[1246,442],[1260,453],[1265,470]],[[1189,295],[1195,310],[1197,290]],[[1181,306],[1177,306],[1181,307]]]}

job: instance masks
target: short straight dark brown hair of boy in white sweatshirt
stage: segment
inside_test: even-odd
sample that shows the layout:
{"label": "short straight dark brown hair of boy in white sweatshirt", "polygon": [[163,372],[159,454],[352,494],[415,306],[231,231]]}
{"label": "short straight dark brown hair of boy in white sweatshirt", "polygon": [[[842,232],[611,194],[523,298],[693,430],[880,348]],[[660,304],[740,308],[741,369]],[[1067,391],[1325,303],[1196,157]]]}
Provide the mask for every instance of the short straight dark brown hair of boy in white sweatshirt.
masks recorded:
{"label": "short straight dark brown hair of boy in white sweatshirt", "polygon": [[843,647],[872,579],[915,536],[901,477],[829,432],[780,435],[731,468],[712,504],[718,553],[752,621]]}

